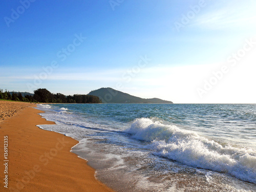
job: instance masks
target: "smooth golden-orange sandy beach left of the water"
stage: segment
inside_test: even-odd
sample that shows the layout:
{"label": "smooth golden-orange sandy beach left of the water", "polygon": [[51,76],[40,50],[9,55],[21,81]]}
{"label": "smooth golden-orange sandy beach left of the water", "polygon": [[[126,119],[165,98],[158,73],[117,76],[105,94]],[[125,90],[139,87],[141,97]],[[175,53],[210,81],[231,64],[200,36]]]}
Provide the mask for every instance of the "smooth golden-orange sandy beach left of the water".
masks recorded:
{"label": "smooth golden-orange sandy beach left of the water", "polygon": [[31,106],[0,101],[1,191],[113,191],[95,179],[95,170],[85,160],[70,152],[78,141],[36,126],[55,123]]}

